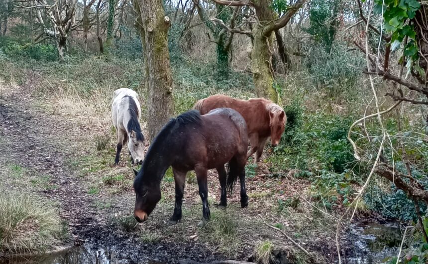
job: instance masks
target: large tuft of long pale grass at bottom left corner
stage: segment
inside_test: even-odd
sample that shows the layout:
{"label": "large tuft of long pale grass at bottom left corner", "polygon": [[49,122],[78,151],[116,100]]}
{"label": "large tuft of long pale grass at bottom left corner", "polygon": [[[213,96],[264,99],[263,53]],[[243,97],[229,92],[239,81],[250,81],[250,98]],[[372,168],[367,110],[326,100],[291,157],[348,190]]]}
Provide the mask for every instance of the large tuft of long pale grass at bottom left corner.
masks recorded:
{"label": "large tuft of long pale grass at bottom left corner", "polygon": [[42,198],[0,190],[0,251],[43,252],[66,238],[55,207]]}

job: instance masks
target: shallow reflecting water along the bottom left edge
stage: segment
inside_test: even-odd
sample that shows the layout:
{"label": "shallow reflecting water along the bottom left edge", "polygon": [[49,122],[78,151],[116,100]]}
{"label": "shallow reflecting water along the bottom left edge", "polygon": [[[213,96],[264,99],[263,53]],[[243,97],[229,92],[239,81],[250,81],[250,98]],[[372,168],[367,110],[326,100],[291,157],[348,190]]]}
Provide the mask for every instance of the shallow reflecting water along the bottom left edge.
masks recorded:
{"label": "shallow reflecting water along the bottom left edge", "polygon": [[73,247],[52,254],[44,254],[34,257],[16,257],[0,264],[119,264],[128,263],[116,260],[114,252],[90,251],[85,247]]}

